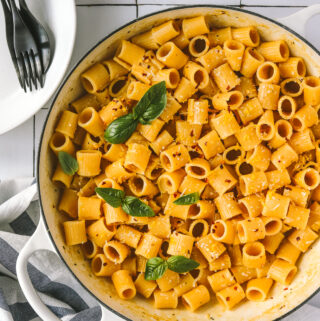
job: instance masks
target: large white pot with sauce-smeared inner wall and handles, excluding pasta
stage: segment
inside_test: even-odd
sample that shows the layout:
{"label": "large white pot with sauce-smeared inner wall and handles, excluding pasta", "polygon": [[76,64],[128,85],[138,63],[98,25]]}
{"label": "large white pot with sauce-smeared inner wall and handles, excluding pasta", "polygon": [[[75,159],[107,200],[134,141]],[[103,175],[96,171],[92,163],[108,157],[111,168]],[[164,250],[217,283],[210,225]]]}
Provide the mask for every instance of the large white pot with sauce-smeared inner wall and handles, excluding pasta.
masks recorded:
{"label": "large white pot with sauce-smeared inner wall and handles, excluding pasta", "polygon": [[[42,215],[37,231],[24,247],[17,261],[17,275],[23,292],[41,318],[48,321],[58,320],[41,302],[27,275],[27,259],[39,249],[49,249],[60,255],[75,277],[99,300],[103,310],[103,320],[108,320],[110,310],[125,319],[143,321],[203,321],[208,320],[210,316],[215,321],[274,320],[293,311],[318,291],[320,242],[315,243],[312,249],[303,255],[299,272],[289,286],[289,290],[283,291],[283,286],[277,285],[272,290],[273,299],[265,302],[249,301],[240,304],[232,311],[224,311],[219,304],[207,304],[197,313],[192,313],[185,309],[156,310],[150,300],[139,297],[132,301],[119,299],[110,281],[94,277],[88,261],[83,258],[82,251],[79,251],[78,247],[67,247],[64,244],[61,223],[67,218],[58,213],[55,206],[58,203],[59,191],[52,184],[51,177],[56,160],[48,147],[61,111],[70,101],[83,94],[79,81],[80,74],[93,63],[112,57],[121,39],[130,38],[168,19],[206,15],[210,25],[216,27],[256,25],[263,40],[285,39],[292,55],[304,57],[309,74],[320,76],[319,52],[301,36],[306,21],[318,12],[320,12],[320,5],[315,5],[281,19],[282,23],[280,23],[255,13],[227,7],[193,6],[169,9],[142,17],[116,30],[90,50],[75,66],[58,91],[43,130],[38,159],[38,187]],[[300,35],[287,26],[297,30]]]}

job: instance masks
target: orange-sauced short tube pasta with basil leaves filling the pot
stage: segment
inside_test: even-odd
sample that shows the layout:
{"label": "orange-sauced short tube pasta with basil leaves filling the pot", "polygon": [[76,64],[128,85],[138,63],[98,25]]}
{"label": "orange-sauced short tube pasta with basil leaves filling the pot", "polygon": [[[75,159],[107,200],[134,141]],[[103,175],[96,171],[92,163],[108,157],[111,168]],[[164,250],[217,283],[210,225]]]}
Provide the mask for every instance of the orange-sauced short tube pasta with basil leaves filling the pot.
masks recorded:
{"label": "orange-sauced short tube pasta with basil leaves filling the pot", "polygon": [[232,309],[294,282],[320,226],[320,79],[284,40],[169,20],[80,80],[49,147],[65,242],[95,277],[190,311],[209,288]]}

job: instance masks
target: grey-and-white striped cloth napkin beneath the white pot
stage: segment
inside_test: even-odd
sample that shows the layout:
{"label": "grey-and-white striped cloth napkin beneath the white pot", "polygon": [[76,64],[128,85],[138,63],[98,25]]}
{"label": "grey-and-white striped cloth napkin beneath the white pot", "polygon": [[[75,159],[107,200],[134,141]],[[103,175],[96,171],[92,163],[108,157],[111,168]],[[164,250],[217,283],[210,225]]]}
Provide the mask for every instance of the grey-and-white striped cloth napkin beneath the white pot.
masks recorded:
{"label": "grey-and-white striped cloth napkin beneath the white pot", "polygon": [[[34,179],[0,182],[0,320],[40,320],[26,301],[16,277],[19,251],[35,231],[39,203]],[[28,271],[48,308],[63,321],[98,321],[101,309],[59,257],[36,252]],[[110,318],[108,320],[111,321]],[[319,321],[320,293],[283,321]],[[164,320],[165,321],[165,320]]]}

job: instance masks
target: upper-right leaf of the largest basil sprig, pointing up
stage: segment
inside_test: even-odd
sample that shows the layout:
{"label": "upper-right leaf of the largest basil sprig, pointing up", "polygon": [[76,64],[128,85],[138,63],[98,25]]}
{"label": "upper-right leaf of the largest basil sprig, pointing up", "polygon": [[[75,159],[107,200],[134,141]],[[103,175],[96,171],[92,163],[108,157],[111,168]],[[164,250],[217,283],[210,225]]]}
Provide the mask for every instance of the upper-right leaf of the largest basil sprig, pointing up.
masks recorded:
{"label": "upper-right leaf of the largest basil sprig, pointing up", "polygon": [[143,95],[133,109],[134,119],[142,124],[151,122],[160,116],[167,104],[167,90],[165,81],[153,85]]}

